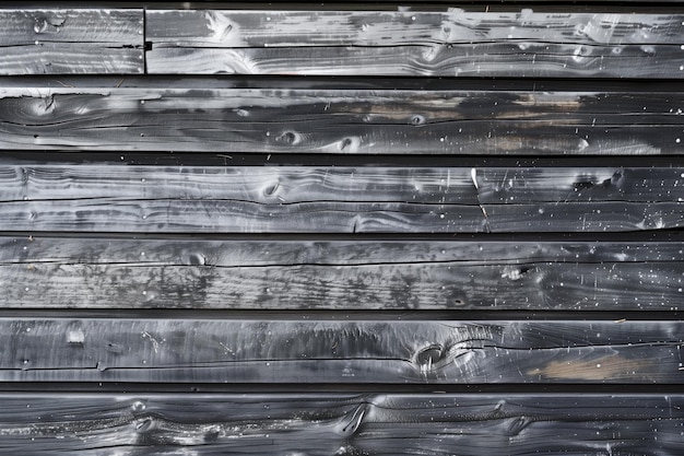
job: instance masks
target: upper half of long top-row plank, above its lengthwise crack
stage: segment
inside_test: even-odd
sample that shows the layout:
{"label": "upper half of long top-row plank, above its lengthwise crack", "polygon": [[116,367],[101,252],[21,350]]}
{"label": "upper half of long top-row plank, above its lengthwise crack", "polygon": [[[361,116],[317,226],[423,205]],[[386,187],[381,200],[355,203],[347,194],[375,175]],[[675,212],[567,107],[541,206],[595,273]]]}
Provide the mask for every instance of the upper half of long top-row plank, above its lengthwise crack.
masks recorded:
{"label": "upper half of long top-row plank, above its lengthwise crack", "polygon": [[[393,46],[540,40],[577,44],[681,44],[684,15],[424,11],[146,11],[157,46]],[[437,26],[436,26],[437,25]]]}

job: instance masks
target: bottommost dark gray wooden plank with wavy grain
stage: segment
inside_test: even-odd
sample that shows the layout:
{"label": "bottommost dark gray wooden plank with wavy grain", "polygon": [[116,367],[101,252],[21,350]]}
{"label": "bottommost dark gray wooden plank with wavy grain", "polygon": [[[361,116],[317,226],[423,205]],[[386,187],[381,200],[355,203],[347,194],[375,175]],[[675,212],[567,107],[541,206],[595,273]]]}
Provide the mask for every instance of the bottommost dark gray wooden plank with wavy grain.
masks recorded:
{"label": "bottommost dark gray wooden plank with wavy grain", "polygon": [[2,454],[664,455],[682,395],[0,395]]}

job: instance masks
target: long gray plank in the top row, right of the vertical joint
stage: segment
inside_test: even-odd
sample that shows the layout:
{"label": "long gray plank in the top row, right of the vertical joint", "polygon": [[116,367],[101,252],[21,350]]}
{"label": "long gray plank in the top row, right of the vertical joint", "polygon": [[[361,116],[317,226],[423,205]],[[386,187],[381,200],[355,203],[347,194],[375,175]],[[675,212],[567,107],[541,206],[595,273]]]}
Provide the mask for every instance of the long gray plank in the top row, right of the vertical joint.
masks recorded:
{"label": "long gray plank in the top row, right of the vertical joint", "polygon": [[684,15],[148,11],[151,73],[673,78]]}

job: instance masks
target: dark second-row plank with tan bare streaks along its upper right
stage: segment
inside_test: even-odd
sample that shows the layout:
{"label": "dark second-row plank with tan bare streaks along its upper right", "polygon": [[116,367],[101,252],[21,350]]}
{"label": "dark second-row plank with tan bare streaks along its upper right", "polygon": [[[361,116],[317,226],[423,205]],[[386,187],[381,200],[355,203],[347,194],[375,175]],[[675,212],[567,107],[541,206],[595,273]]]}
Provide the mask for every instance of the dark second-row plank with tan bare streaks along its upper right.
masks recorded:
{"label": "dark second-row plank with tan bare streaks along its upper right", "polygon": [[31,84],[0,89],[0,149],[679,155],[683,109],[676,92]]}

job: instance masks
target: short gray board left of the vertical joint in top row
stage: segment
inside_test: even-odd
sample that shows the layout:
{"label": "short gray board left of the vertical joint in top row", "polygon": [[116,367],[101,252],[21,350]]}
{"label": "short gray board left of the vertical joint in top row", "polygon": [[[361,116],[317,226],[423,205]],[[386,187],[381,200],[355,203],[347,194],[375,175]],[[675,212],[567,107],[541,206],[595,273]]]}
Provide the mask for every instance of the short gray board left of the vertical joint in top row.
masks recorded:
{"label": "short gray board left of the vertical joint in top row", "polygon": [[144,72],[142,10],[0,10],[0,74]]}

